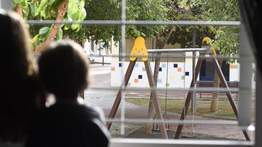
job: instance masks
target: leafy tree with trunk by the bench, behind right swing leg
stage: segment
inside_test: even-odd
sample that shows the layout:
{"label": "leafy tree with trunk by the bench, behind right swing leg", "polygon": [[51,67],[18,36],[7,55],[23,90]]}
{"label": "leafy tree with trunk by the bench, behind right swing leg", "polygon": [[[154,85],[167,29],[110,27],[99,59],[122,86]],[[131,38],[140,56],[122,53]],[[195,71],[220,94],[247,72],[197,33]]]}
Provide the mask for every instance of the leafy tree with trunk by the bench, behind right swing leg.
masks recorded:
{"label": "leafy tree with trunk by the bench, behind right swing leg", "polygon": [[[208,1],[203,4],[205,7],[204,19],[205,20],[218,20],[218,21],[239,21],[240,8],[238,0],[224,0],[215,1],[214,3]],[[212,47],[220,55],[238,55],[239,53],[239,27],[237,26],[209,26],[209,34],[215,34]],[[223,60],[218,59],[221,67]],[[227,64],[235,63],[236,60],[228,59]],[[215,72],[213,87],[219,88],[219,77]],[[219,92],[214,91],[211,100],[210,111],[218,111],[218,96]]]}

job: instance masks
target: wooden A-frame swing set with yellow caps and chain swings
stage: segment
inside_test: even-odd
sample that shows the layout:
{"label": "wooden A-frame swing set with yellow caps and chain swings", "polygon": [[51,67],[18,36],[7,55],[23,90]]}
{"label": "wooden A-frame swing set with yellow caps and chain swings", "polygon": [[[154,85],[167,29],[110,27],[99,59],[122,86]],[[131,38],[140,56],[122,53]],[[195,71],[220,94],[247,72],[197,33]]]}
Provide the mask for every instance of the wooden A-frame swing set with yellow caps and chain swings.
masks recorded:
{"label": "wooden A-frame swing set with yellow caps and chain swings", "polygon": [[[177,127],[177,131],[176,131],[176,134],[175,134],[175,139],[178,139],[181,135],[181,131],[182,129],[184,130],[183,131],[183,135],[181,136],[182,138],[192,138],[192,137],[196,137],[195,135],[195,131],[194,131],[194,111],[192,111],[192,127],[191,127],[191,133],[190,135],[187,134],[186,132],[186,127],[185,127],[185,118],[186,118],[186,114],[187,114],[187,111],[188,111],[188,108],[189,108],[189,104],[190,104],[190,101],[191,101],[191,94],[193,94],[193,99],[195,98],[195,91],[196,91],[196,80],[197,80],[197,77],[198,77],[198,74],[199,74],[199,71],[200,71],[200,67],[201,67],[201,64],[202,64],[202,61],[203,59],[205,58],[205,56],[211,56],[213,58],[211,58],[212,62],[213,62],[213,65],[216,69],[216,72],[219,76],[219,79],[222,83],[222,86],[224,88],[227,89],[226,91],[226,95],[228,97],[228,100],[231,104],[231,107],[233,108],[233,111],[236,115],[236,117],[238,118],[238,108],[237,108],[237,105],[236,105],[236,102],[235,100],[233,99],[233,95],[227,85],[227,82],[224,78],[224,75],[222,73],[222,70],[218,64],[218,61],[216,59],[216,51],[212,48],[212,50],[210,49],[211,46],[212,46],[212,43],[207,43],[207,41],[210,41],[211,39],[209,37],[205,37],[203,39],[203,42],[202,42],[202,48],[183,48],[183,49],[154,49],[154,50],[147,50],[146,49],[146,46],[145,46],[145,40],[143,37],[138,37],[135,39],[135,44],[132,48],[132,51],[131,51],[131,54],[130,54],[130,63],[129,63],[129,66],[127,68],[127,71],[125,73],[125,77],[124,77],[124,80],[123,80],[123,83],[121,85],[121,88],[119,89],[118,91],[118,94],[116,96],[116,100],[113,104],[113,107],[110,111],[110,114],[108,116],[108,118],[114,118],[115,115],[116,115],[116,111],[119,107],[119,104],[121,102],[121,91],[125,90],[126,87],[127,87],[127,83],[130,79],[130,76],[132,74],[132,71],[134,69],[134,66],[135,66],[135,63],[137,61],[137,58],[141,58],[143,61],[144,61],[144,64],[145,64],[145,69],[146,69],[146,74],[147,74],[147,78],[148,78],[148,81],[149,81],[149,86],[150,86],[150,90],[151,90],[151,95],[152,95],[152,100],[153,100],[153,103],[154,103],[154,106],[155,106],[155,117],[157,117],[157,119],[160,119],[160,120],[164,120],[164,117],[166,116],[167,118],[167,122],[166,124],[163,124],[163,123],[160,123],[160,124],[156,124],[156,123],[153,123],[153,129],[152,131],[160,131],[161,132],[161,135],[162,135],[162,138],[165,138],[165,139],[168,139],[168,136],[167,136],[167,131],[170,131],[169,129],[169,117],[167,116],[167,112],[166,112],[166,103],[165,103],[165,112],[164,114],[162,115],[161,113],[161,108],[160,108],[160,102],[159,102],[159,99],[158,99],[158,95],[157,95],[157,91],[155,90],[156,89],[156,84],[155,84],[155,81],[153,79],[153,74],[152,74],[152,69],[151,69],[151,66],[150,66],[150,61],[148,60],[148,53],[167,53],[167,72],[166,72],[166,101],[167,101],[167,79],[168,79],[168,59],[169,59],[169,53],[171,52],[183,52],[183,57],[184,57],[184,77],[185,77],[185,52],[197,52],[199,51],[199,58],[198,58],[198,61],[197,61],[197,65],[196,64],[196,60],[195,58],[193,59],[193,67],[194,68],[194,71],[193,71],[193,78],[192,78],[192,81],[191,81],[191,84],[190,84],[190,88],[193,88],[193,91],[188,91],[188,94],[187,96],[185,95],[185,78],[184,78],[184,107],[183,107],[183,111],[182,111],[182,114],[181,114],[181,117],[180,117],[180,120],[184,120],[184,124],[179,124],[178,127]],[[186,97],[185,97],[186,96]],[[193,101],[193,110],[194,110],[194,101]],[[155,117],[153,120],[155,120]],[[107,127],[108,129],[110,129],[111,127],[111,124],[112,123],[108,123],[107,124]],[[155,128],[156,126],[156,128]],[[249,134],[247,133],[246,130],[242,130],[243,131],[243,134],[246,138],[246,140],[250,141],[250,136]]]}

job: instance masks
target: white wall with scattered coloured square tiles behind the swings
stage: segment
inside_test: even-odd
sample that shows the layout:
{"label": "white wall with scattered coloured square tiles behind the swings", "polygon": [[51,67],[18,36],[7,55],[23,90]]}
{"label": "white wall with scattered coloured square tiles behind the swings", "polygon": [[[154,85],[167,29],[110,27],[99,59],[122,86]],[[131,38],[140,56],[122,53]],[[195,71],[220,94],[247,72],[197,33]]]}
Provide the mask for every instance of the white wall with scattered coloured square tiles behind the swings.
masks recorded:
{"label": "white wall with scattered coloured square tiles behind the swings", "polygon": [[[120,86],[124,77],[125,72],[127,71],[129,62],[124,63],[111,63],[111,86]],[[151,69],[154,71],[155,62],[150,62]],[[166,70],[167,62],[161,62],[159,67],[159,75],[157,80],[157,87],[166,86]],[[239,71],[240,64],[231,64],[229,70],[229,80],[230,81],[239,81]],[[168,64],[168,77],[167,77],[167,86],[168,87],[184,87],[184,78],[185,78],[185,87],[189,87],[192,80],[192,64],[185,64],[185,77],[184,77],[184,67],[183,63],[169,62]],[[252,77],[252,79],[254,76]],[[198,79],[199,80],[199,77]],[[149,87],[146,69],[144,62],[137,62],[133,69],[132,75],[127,86],[132,87]],[[254,80],[252,80],[252,87],[255,86]]]}

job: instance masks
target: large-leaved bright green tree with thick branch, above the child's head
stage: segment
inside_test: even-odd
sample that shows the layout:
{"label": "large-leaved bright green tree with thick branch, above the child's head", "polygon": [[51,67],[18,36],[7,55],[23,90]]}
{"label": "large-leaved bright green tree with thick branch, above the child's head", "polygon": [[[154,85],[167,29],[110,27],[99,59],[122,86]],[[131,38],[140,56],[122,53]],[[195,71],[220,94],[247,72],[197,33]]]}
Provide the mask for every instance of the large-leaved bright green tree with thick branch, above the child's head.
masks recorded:
{"label": "large-leaved bright green tree with thick branch, above the child's head", "polygon": [[[81,21],[86,17],[86,11],[83,8],[84,0],[13,0],[13,7],[22,15],[24,20],[67,20]],[[46,45],[52,40],[58,41],[63,37],[63,30],[74,30],[75,32],[81,29],[81,25],[61,25],[52,24],[40,28],[39,26],[30,25],[29,30],[34,35],[31,40],[35,52],[42,51]]]}

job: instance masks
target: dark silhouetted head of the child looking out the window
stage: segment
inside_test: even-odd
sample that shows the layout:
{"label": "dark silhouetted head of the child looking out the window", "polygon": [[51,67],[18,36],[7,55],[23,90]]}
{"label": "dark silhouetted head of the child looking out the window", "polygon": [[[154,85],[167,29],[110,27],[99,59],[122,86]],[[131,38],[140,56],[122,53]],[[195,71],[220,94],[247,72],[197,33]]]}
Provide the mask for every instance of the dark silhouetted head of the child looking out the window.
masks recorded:
{"label": "dark silhouetted head of the child looking out the window", "polygon": [[40,79],[57,99],[75,99],[88,86],[88,64],[82,47],[66,40],[51,43],[38,61]]}

